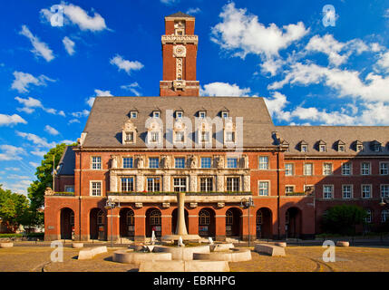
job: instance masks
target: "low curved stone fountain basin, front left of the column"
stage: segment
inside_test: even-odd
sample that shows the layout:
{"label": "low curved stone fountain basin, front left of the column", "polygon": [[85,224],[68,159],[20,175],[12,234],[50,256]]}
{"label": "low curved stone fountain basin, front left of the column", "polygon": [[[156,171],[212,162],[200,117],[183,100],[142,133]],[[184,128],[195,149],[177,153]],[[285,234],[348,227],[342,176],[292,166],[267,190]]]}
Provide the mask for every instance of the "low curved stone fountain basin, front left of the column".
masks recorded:
{"label": "low curved stone fountain basin, front left of the column", "polygon": [[118,250],[113,253],[112,260],[114,262],[131,264],[141,263],[144,261],[170,261],[170,253],[142,253],[134,252],[133,250]]}

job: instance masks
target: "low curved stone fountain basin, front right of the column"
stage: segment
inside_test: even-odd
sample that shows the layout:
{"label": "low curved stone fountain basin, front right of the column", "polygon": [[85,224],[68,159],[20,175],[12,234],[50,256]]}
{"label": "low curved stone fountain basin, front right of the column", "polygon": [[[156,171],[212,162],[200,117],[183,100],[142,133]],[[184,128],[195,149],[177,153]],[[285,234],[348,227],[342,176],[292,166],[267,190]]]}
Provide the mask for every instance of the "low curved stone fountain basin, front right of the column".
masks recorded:
{"label": "low curved stone fountain basin, front right of the column", "polygon": [[194,253],[193,260],[211,260],[211,261],[228,261],[243,262],[251,260],[251,251],[243,248],[230,248],[227,251],[212,253]]}

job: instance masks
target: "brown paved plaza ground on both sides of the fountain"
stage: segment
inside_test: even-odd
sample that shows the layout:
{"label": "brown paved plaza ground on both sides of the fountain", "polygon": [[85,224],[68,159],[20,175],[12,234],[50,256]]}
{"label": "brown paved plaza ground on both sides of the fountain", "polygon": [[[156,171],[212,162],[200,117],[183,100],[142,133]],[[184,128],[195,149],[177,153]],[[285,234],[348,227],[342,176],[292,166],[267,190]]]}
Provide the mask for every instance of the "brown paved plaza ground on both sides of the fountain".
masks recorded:
{"label": "brown paved plaza ground on both sides of the fountain", "polygon": [[[108,247],[108,253],[91,260],[77,260],[79,249],[63,247],[63,262],[53,263],[53,248],[15,244],[0,249],[0,272],[127,272],[139,265],[112,261],[119,247]],[[125,247],[121,247],[125,248]],[[253,248],[251,248],[253,250]],[[323,262],[325,248],[291,246],[287,256],[265,256],[252,252],[248,262],[229,263],[232,272],[389,272],[389,247],[336,247],[336,262]]]}

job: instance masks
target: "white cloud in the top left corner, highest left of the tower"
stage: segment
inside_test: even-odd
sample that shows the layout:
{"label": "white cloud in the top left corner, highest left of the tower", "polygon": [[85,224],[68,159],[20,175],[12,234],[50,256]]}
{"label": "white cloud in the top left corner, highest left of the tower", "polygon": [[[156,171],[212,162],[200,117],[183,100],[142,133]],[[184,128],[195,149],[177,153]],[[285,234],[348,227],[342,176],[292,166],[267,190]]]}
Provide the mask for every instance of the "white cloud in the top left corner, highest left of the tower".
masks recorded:
{"label": "white cloud in the top left corner, highest left of the tower", "polygon": [[[90,30],[92,32],[108,29],[101,14],[92,11],[93,15],[90,16],[80,6],[65,2],[62,2],[61,5],[63,6],[63,24],[76,24],[81,30]],[[42,9],[40,13],[45,21],[50,22],[53,13],[49,9]]]}

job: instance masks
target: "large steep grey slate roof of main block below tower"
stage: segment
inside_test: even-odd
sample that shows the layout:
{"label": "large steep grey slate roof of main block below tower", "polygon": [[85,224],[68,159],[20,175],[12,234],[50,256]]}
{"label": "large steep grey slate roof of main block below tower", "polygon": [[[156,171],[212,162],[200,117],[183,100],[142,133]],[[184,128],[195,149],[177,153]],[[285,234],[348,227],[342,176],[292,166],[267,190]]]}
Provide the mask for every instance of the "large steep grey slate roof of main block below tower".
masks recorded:
{"label": "large steep grey slate roof of main block below tower", "polygon": [[[272,138],[273,121],[263,98],[258,97],[96,97],[83,132],[86,138],[83,148],[146,148],[146,120],[158,107],[160,118],[166,120],[166,110],[183,109],[193,128],[197,112],[207,109],[211,119],[219,116],[223,107],[229,109],[229,116],[243,117],[243,146],[275,146]],[[131,108],[138,109],[138,118],[131,119],[137,128],[135,144],[122,144],[122,126],[129,120]],[[193,129],[194,131],[194,129]],[[165,132],[165,130],[164,130]],[[213,131],[215,137],[215,129]],[[192,143],[193,147],[194,144]]]}

